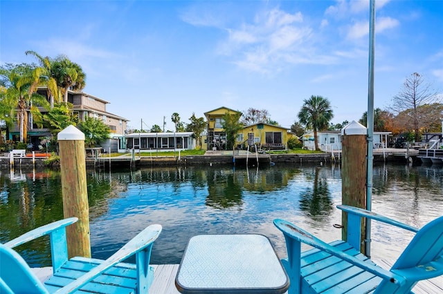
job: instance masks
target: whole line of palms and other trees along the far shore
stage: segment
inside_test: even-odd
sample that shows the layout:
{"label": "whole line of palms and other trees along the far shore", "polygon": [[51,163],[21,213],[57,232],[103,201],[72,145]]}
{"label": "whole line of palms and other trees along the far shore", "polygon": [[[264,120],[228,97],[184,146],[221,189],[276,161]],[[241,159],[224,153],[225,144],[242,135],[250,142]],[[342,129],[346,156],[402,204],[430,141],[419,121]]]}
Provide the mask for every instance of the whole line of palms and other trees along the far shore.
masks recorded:
{"label": "whole line of palms and other trees along the far shore", "polygon": [[[21,142],[27,138],[28,112],[33,116],[33,123],[42,128],[45,126],[53,135],[70,124],[77,125],[84,131],[87,144],[91,145],[106,139],[109,128],[98,119],[86,119],[79,122],[68,102],[68,91],[79,91],[86,86],[86,74],[80,65],[71,61],[66,55],[55,58],[42,57],[35,51],[26,51],[26,55],[35,57],[37,63],[6,63],[0,66],[0,133],[13,124],[20,130]],[[46,89],[46,97],[37,92],[39,88]],[[48,101],[49,100],[49,101]],[[414,72],[406,77],[403,88],[392,97],[392,104],[386,109],[374,110],[374,130],[390,131],[393,134],[408,133],[415,141],[420,141],[422,133],[440,132],[441,117],[443,117],[442,95],[433,90],[422,75]],[[39,109],[47,112],[42,114]],[[298,120],[291,126],[291,132],[298,137],[307,130],[314,133],[316,149],[318,149],[317,132],[323,130],[341,130],[349,122],[332,124],[334,113],[329,99],[312,95],[303,100],[302,107],[296,115]],[[235,120],[236,118],[236,120]],[[195,134],[197,144],[201,144],[201,135],[206,130],[206,119],[196,117],[195,113],[189,118],[190,123],[181,121],[180,115],[174,112],[171,116],[175,132],[189,131]],[[366,126],[367,112],[364,112],[359,122]],[[101,123],[101,124],[100,124]],[[229,139],[235,134],[233,130],[240,126],[266,123],[278,126],[271,119],[267,110],[248,108],[239,117],[224,117],[224,127]],[[163,121],[163,132],[165,122]],[[129,133],[149,131],[159,133],[162,128],[154,124],[150,130],[129,130]],[[2,137],[0,136],[0,140]],[[2,142],[0,141],[0,144]]]}

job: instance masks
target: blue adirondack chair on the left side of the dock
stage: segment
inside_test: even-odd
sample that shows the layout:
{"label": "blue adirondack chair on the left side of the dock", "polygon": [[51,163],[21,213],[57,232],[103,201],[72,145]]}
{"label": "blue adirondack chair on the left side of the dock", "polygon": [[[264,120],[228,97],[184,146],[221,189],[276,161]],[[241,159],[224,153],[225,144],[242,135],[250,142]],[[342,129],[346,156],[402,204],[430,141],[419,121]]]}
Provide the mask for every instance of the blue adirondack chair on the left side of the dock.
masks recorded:
{"label": "blue adirondack chair on the left side of the dock", "polygon": [[[154,280],[149,265],[152,244],[161,226],[148,226],[106,260],[68,259],[66,226],[77,220],[62,219],[0,244],[0,293],[147,293]],[[53,275],[43,284],[12,248],[44,235],[51,238]],[[123,263],[132,255],[136,255],[136,264]]]}

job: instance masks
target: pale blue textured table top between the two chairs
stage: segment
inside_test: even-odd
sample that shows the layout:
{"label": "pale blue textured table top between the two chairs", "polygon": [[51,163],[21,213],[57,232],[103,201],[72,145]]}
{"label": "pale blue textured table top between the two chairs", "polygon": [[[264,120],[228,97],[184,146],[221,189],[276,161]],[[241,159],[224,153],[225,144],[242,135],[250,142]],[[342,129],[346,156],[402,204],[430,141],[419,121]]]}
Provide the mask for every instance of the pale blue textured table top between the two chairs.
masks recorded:
{"label": "pale blue textured table top between the two chairs", "polygon": [[263,235],[197,235],[175,284],[181,293],[284,293],[289,278]]}

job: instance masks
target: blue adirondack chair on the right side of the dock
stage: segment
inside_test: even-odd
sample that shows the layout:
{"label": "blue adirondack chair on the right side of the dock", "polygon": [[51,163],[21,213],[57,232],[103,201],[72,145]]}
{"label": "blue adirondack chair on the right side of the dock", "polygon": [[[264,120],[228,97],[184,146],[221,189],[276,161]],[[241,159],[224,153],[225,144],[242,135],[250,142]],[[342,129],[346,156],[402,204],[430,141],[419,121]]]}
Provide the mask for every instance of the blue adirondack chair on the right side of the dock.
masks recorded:
{"label": "blue adirondack chair on the right side of the dock", "polygon": [[[417,229],[368,210],[337,207],[347,212],[347,242],[327,244],[294,224],[274,220],[287,244],[288,257],[282,264],[291,281],[289,294],[410,293],[419,280],[443,275],[443,217]],[[359,252],[363,217],[416,233],[390,271]],[[315,248],[301,252],[300,242]]]}

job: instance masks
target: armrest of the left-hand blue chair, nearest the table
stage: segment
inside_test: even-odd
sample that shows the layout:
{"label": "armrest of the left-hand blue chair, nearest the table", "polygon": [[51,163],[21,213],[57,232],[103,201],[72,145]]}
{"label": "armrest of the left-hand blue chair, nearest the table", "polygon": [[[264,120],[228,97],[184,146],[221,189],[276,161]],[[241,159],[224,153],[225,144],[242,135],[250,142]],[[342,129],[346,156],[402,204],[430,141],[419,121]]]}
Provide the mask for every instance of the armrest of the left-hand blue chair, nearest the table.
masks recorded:
{"label": "armrest of the left-hand blue chair, nearest the table", "polygon": [[[150,253],[152,244],[157,239],[157,237],[159,237],[160,233],[161,233],[161,225],[153,224],[151,226],[148,226],[143,231],[141,231],[141,233],[138,233],[136,237],[127,242],[125,246],[120,248],[119,251],[117,251],[116,253],[111,255],[111,257],[106,259],[104,262],[102,262],[101,264],[93,268],[91,271],[89,271],[89,273],[85,273],[77,280],[71,282],[70,284],[67,284],[63,288],[60,288],[55,293],[72,293],[74,291],[77,291],[82,286],[84,286],[84,284],[87,284],[98,275],[101,275],[109,268],[115,266],[119,262],[122,262],[128,257],[145,250],[149,251]],[[149,257],[145,258],[145,260],[147,264],[137,264],[137,270],[139,270],[139,267],[142,267],[143,271],[145,271],[147,276],[147,271],[149,271]]]}

